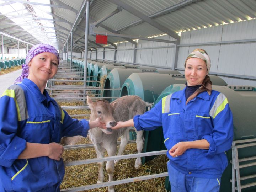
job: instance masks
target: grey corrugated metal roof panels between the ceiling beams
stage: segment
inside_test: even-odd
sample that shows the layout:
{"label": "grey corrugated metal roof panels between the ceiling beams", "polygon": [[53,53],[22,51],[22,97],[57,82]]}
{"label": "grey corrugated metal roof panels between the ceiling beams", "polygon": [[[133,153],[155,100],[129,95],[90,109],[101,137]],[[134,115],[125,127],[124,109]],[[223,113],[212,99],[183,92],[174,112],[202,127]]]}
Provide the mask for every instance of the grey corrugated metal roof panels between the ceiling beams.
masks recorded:
{"label": "grey corrugated metal roof panels between the ceiling beams", "polygon": [[[76,19],[76,13],[80,10],[84,0],[50,0],[53,5],[65,5],[67,9],[52,7],[52,12],[54,19],[64,19],[67,22],[55,21],[55,28],[57,30],[57,42],[59,49],[64,46],[63,42],[66,39],[66,35],[69,34],[71,26]],[[125,8],[130,7],[132,10],[136,10],[145,16],[156,14],[151,18],[152,21],[159,23],[163,27],[167,28],[170,32],[180,32],[188,31],[198,28],[205,28],[215,25],[222,25],[230,22],[238,22],[242,20],[248,20],[256,17],[256,1],[255,0],[121,0],[117,3],[124,3],[124,9],[103,21],[102,24],[121,34],[128,34],[132,36],[150,37],[159,36],[165,34],[161,31],[161,28],[156,28],[150,23],[145,21],[136,23],[133,26],[124,28],[124,26],[129,25],[140,18],[139,15],[128,12]],[[173,7],[182,3],[189,3],[179,9],[174,9]],[[33,5],[31,5],[33,7]],[[117,9],[116,4],[112,3],[111,0],[91,0],[90,6],[90,22],[95,22],[110,14]],[[73,9],[72,9],[73,8]],[[164,14],[158,14],[162,10],[169,9],[169,12]],[[85,17],[83,15],[83,17]],[[0,16],[0,20],[6,18]],[[8,21],[9,22],[9,21]],[[1,28],[10,27],[11,25],[1,25]],[[85,18],[82,18],[78,27],[73,34],[74,40],[84,35],[85,28]],[[21,29],[21,28],[18,28]],[[18,30],[15,28],[13,31]],[[95,31],[108,32],[102,27],[95,28]],[[7,33],[7,31],[5,31]],[[12,33],[9,32],[9,33]],[[21,34],[26,32],[21,31]],[[26,36],[25,36],[26,37]],[[81,40],[83,40],[82,38]],[[91,41],[94,41],[95,37],[89,37]],[[112,43],[125,41],[120,37],[108,37],[108,41]],[[81,44],[81,41],[79,41]],[[90,45],[92,45],[90,43]]]}

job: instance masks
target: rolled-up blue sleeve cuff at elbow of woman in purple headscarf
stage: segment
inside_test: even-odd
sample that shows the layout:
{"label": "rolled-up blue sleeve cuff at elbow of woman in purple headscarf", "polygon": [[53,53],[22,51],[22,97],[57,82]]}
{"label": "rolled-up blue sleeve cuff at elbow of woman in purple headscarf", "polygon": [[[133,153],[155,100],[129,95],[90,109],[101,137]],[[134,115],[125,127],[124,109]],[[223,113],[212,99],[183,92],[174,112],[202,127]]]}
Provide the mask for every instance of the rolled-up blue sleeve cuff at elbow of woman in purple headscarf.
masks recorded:
{"label": "rolled-up blue sleeve cuff at elbow of woman in purple headscarf", "polygon": [[0,156],[0,165],[11,167],[14,161],[18,159],[18,156],[20,156],[22,151],[26,148],[26,143],[26,140],[16,136],[12,139],[12,142],[6,149],[0,148],[0,151],[4,151]]}

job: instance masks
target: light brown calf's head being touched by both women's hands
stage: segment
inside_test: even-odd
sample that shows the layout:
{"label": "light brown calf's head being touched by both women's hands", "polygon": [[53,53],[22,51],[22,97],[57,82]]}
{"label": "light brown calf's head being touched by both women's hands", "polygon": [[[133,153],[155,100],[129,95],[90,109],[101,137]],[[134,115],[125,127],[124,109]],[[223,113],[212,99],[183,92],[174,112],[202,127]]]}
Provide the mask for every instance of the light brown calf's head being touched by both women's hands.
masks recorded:
{"label": "light brown calf's head being touched by both women's hands", "polygon": [[87,103],[91,110],[90,121],[94,121],[96,118],[100,117],[101,122],[106,124],[106,129],[101,129],[106,134],[112,134],[111,127],[116,126],[116,121],[113,117],[114,109],[118,102],[115,105],[111,106],[106,100],[97,100],[93,102],[89,96],[87,96]]}

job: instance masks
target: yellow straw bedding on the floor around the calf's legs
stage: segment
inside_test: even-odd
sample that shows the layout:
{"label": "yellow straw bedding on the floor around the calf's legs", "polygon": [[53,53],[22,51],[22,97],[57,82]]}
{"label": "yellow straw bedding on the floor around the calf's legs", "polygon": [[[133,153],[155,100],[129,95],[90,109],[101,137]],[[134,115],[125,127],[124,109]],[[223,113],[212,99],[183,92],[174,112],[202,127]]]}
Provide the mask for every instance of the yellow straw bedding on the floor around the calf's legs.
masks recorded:
{"label": "yellow straw bedding on the floor around the calf's legs", "polygon": [[[79,144],[90,143],[88,138],[84,138]],[[119,150],[119,146],[118,146]],[[136,144],[128,144],[124,150],[124,154],[137,153]],[[107,156],[107,153],[105,153]],[[97,158],[94,148],[65,150],[63,153],[64,161],[74,161],[83,159]],[[139,177],[143,175],[157,174],[167,171],[167,157],[166,155],[160,155],[157,158],[147,162],[146,164],[135,169],[135,158],[120,160],[114,168],[114,180],[121,180],[125,178]],[[105,169],[106,162],[104,163],[104,182],[108,181],[108,175]],[[78,187],[83,185],[92,185],[97,183],[98,178],[98,165],[85,164],[65,167],[65,177],[60,186],[61,189]],[[165,177],[155,178],[145,181],[137,181],[133,183],[126,183],[122,185],[116,185],[116,191],[147,191],[147,192],[163,192]],[[97,188],[93,190],[87,190],[89,192],[106,191],[106,188]]]}

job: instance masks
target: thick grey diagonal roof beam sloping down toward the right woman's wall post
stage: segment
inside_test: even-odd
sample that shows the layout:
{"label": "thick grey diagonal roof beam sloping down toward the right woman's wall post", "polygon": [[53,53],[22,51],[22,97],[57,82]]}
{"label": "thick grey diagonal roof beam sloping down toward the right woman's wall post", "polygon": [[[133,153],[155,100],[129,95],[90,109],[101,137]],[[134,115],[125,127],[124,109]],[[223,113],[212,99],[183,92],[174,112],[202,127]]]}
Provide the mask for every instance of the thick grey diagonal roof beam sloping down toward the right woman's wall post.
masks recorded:
{"label": "thick grey diagonal roof beam sloping down toward the right woman's wall post", "polygon": [[112,2],[113,4],[121,6],[123,9],[125,9],[128,12],[130,12],[134,16],[139,17],[143,21],[149,23],[151,26],[153,26],[153,27],[157,28],[158,30],[168,34],[169,36],[171,36],[171,37],[173,37],[175,39],[180,39],[180,36],[178,36],[176,33],[174,33],[173,31],[169,30],[168,28],[162,26],[161,24],[159,24],[158,22],[154,21],[153,19],[147,17],[146,15],[144,15],[141,12],[139,12],[138,10],[135,10],[130,5],[125,4],[124,2],[119,1],[119,0],[108,0],[108,1]]}

